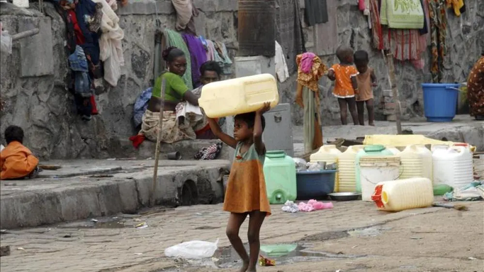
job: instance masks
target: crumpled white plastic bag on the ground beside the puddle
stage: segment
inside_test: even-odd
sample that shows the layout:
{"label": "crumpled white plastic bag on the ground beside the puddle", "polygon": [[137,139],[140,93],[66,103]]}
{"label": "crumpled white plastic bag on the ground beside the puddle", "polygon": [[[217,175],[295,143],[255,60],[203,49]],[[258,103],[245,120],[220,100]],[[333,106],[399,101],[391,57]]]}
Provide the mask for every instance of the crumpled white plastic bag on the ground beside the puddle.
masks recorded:
{"label": "crumpled white plastic bag on the ground beside the puddle", "polygon": [[182,242],[165,249],[165,256],[185,259],[210,258],[217,250],[218,243],[219,239],[214,243],[204,241]]}

